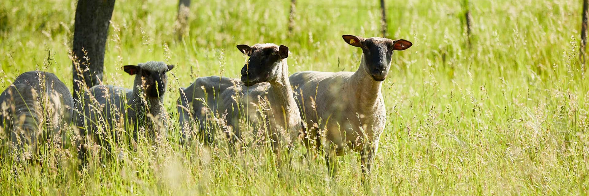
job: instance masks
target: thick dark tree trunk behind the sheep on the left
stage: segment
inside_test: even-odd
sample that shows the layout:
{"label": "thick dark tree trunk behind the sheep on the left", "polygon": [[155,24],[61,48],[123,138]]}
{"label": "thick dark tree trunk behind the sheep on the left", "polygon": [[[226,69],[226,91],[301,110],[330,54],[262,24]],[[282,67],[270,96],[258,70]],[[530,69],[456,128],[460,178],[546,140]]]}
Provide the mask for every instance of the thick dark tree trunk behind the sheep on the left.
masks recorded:
{"label": "thick dark tree trunk behind the sheep on the left", "polygon": [[104,48],[115,0],[79,0],[75,9],[72,67],[74,102],[80,89],[99,84],[104,69]]}

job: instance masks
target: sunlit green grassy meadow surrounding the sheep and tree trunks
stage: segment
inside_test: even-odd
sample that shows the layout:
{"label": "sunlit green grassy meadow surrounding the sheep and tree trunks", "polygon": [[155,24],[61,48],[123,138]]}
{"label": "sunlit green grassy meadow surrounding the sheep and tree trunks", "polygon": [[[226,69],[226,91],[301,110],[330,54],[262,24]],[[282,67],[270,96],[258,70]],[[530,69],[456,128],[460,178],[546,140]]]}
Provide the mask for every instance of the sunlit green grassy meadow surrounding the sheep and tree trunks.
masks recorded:
{"label": "sunlit green grassy meadow surrounding the sheep and tree trunks", "polygon": [[[272,153],[231,158],[219,147],[179,142],[178,87],[197,77],[239,77],[237,44],[289,46],[290,73],[356,71],[360,49],[341,35],[380,36],[379,1],[193,0],[189,31],[176,39],[177,1],[118,0],[104,83],[131,88],[121,67],[175,64],[166,106],[173,127],[115,161],[77,171],[74,137],[48,164],[0,163],[1,195],[587,195],[589,74],[578,61],[581,1],[471,1],[471,45],[458,0],[386,1],[389,38],[413,46],[393,54],[382,94],[388,112],[370,187],[359,155],[325,160],[297,144],[279,177]],[[71,89],[75,1],[0,3],[0,89],[34,69]],[[68,130],[72,132],[72,130]],[[5,132],[0,134],[6,140]],[[4,145],[4,144],[3,144]],[[157,153],[151,153],[157,151]]]}

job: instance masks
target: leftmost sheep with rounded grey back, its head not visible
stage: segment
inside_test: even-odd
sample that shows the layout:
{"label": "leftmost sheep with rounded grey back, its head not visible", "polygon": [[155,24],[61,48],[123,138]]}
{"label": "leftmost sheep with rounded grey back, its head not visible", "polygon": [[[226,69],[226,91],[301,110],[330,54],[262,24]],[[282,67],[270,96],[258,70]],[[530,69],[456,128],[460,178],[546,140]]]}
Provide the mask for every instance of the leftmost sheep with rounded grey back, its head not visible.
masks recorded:
{"label": "leftmost sheep with rounded grey back, its head not visible", "polygon": [[[61,143],[72,119],[74,99],[54,74],[29,71],[0,94],[0,128],[18,150],[16,160],[35,160],[55,137]],[[45,141],[45,142],[44,142]],[[12,147],[7,152],[12,155]],[[5,151],[6,152],[6,151]]]}

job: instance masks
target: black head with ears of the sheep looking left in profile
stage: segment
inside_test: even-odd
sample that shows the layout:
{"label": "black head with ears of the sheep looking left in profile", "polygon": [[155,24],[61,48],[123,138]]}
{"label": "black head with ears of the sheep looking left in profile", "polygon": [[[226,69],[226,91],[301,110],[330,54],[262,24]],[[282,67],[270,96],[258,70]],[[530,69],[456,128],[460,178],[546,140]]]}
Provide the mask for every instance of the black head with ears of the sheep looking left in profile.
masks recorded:
{"label": "black head with ears of the sheep looking left in profile", "polygon": [[282,61],[289,57],[289,48],[284,45],[242,44],[237,45],[237,49],[250,57],[246,65],[241,68],[241,82],[248,87],[275,80],[279,74],[282,74]]}

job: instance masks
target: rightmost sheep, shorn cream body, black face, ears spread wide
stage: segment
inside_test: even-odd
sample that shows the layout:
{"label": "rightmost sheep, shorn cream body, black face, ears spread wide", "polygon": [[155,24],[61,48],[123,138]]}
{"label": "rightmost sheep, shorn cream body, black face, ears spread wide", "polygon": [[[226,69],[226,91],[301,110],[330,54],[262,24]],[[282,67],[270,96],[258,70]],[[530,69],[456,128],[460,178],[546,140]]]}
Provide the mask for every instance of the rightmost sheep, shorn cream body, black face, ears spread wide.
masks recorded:
{"label": "rightmost sheep, shorn cream body, black face, ears spread wide", "polygon": [[[337,172],[336,155],[345,154],[345,146],[360,152],[362,182],[368,180],[380,134],[385,128],[386,108],[380,88],[391,66],[393,51],[402,51],[412,43],[405,39],[362,38],[343,35],[349,45],[362,48],[356,72],[303,71],[290,76],[303,121],[305,144],[323,147],[327,171]],[[324,132],[320,132],[324,131]],[[325,136],[326,142],[321,141]]]}

